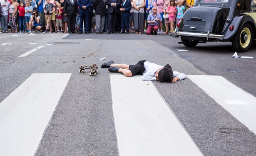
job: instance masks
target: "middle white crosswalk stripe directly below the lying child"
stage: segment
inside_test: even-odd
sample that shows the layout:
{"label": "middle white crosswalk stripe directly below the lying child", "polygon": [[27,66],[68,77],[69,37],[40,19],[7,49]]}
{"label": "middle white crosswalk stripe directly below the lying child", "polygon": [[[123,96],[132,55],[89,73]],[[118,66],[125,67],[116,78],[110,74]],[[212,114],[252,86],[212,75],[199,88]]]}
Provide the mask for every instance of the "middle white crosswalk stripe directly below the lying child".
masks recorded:
{"label": "middle white crosswalk stripe directly below the lying child", "polygon": [[120,156],[200,156],[151,81],[110,75]]}

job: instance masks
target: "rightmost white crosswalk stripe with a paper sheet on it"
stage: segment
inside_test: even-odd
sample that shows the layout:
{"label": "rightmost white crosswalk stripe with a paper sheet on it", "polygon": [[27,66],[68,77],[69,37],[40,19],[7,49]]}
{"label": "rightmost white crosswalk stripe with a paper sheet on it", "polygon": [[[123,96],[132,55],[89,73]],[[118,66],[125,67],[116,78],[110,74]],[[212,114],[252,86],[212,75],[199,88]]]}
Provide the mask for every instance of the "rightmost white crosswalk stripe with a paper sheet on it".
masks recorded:
{"label": "rightmost white crosswalk stripe with a paper sheet on it", "polygon": [[222,76],[187,75],[219,105],[256,134],[256,98]]}

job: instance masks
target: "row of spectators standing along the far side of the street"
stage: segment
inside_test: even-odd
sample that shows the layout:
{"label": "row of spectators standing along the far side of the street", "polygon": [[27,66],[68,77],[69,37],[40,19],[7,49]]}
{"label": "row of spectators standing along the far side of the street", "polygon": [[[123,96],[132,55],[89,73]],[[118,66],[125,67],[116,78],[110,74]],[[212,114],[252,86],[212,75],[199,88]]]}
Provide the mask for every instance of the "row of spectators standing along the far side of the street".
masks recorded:
{"label": "row of spectators standing along the far side of the street", "polygon": [[168,34],[193,5],[194,0],[0,0],[0,33]]}

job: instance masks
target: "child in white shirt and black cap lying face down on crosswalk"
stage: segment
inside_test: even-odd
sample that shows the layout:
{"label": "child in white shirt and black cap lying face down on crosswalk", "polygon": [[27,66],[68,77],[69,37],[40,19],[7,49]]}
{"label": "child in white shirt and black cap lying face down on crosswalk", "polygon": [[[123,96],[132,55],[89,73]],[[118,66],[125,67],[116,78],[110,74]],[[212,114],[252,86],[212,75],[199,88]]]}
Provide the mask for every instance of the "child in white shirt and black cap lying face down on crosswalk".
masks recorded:
{"label": "child in white shirt and black cap lying face down on crosswalk", "polygon": [[124,76],[127,77],[134,76],[135,74],[141,74],[143,75],[142,80],[147,81],[159,80],[160,82],[176,82],[186,78],[184,73],[172,71],[169,64],[160,66],[145,60],[141,60],[135,65],[116,64],[114,61],[109,61],[107,63],[103,63],[100,67],[109,68],[108,71],[113,73],[123,73]]}

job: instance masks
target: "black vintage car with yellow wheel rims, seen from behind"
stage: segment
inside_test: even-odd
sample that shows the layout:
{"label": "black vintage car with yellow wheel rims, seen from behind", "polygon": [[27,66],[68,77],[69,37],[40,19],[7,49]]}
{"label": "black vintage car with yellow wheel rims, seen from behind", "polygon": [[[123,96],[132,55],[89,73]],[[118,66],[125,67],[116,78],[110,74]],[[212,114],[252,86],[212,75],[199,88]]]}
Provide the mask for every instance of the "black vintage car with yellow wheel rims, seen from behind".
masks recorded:
{"label": "black vintage car with yellow wheel rims, seen from behind", "polygon": [[197,0],[170,34],[184,46],[231,41],[234,51],[245,52],[256,41],[256,0]]}

